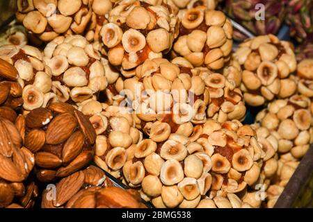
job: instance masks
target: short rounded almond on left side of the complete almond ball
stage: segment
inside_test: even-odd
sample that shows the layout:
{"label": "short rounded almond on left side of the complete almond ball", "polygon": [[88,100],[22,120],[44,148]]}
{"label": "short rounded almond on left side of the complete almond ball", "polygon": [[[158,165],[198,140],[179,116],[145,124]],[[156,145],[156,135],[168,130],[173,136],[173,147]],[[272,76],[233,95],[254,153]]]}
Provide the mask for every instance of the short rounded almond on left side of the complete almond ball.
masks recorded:
{"label": "short rounded almond on left side of the complete almond ball", "polygon": [[35,153],[40,151],[46,142],[46,134],[44,130],[33,129],[25,136],[24,146],[28,148],[31,152]]}

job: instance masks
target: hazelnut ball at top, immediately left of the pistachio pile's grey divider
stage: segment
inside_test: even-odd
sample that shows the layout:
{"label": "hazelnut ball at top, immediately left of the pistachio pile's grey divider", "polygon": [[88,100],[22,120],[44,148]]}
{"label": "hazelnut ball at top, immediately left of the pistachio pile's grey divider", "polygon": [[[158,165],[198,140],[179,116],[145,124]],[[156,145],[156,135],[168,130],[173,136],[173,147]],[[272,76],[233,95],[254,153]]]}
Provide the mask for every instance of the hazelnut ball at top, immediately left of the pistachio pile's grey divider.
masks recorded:
{"label": "hazelnut ball at top, immediately left of the pistachio pile's grey divider", "polygon": [[195,67],[221,69],[232,52],[232,24],[223,12],[191,8],[179,14],[179,37],[172,56],[183,56]]}

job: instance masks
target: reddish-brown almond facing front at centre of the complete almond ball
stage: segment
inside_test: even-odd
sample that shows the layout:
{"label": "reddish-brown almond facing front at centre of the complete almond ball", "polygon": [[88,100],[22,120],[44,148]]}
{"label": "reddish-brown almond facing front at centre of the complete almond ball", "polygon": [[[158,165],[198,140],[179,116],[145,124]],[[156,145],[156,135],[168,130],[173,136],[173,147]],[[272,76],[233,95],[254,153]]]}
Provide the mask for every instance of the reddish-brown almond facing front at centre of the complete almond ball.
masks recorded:
{"label": "reddish-brown almond facing front at centre of the complete almond ball", "polygon": [[46,131],[47,144],[65,142],[77,127],[76,118],[70,113],[63,113],[52,119]]}

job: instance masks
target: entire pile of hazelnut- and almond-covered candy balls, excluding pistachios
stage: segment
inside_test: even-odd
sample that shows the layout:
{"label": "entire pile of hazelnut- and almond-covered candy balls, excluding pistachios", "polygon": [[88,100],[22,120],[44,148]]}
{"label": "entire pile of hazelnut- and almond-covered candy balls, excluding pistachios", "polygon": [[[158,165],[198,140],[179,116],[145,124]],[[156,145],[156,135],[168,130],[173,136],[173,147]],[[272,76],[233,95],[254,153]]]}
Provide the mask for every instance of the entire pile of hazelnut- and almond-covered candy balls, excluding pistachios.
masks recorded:
{"label": "entire pile of hazelnut- and almond-covered candy balls, excluding pistachios", "polygon": [[274,207],[313,142],[313,60],[273,34],[234,50],[217,5],[17,0],[0,207]]}

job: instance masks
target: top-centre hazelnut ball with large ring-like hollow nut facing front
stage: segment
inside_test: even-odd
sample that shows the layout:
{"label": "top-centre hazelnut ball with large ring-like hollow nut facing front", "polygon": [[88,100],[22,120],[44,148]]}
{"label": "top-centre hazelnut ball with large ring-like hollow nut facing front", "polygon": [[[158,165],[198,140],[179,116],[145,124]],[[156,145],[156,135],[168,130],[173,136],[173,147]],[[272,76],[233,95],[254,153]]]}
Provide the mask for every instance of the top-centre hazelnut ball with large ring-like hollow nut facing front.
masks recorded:
{"label": "top-centre hazelnut ball with large ring-like hollow nut facing front", "polygon": [[177,17],[166,4],[154,5],[138,0],[115,3],[109,23],[100,31],[112,65],[127,71],[170,51],[177,35]]}

